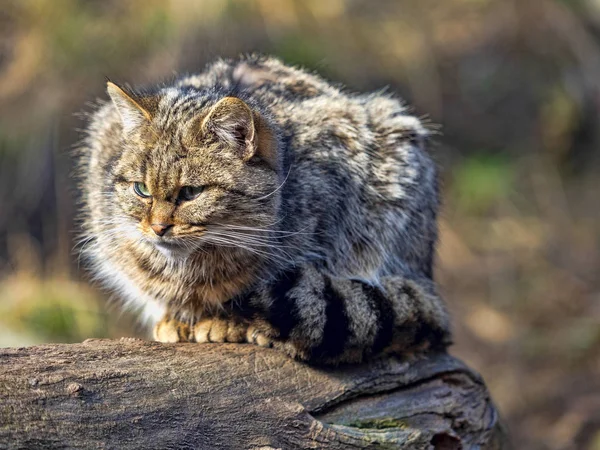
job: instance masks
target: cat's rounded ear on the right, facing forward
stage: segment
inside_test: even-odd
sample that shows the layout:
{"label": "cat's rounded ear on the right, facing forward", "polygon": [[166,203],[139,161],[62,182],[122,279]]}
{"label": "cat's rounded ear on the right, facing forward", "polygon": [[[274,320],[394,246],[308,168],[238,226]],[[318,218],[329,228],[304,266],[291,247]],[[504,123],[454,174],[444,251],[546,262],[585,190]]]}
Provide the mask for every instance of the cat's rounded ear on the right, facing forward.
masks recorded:
{"label": "cat's rounded ear on the right, facing forward", "polygon": [[250,107],[236,97],[225,97],[217,102],[202,120],[202,131],[235,148],[244,161],[256,153],[256,127]]}

